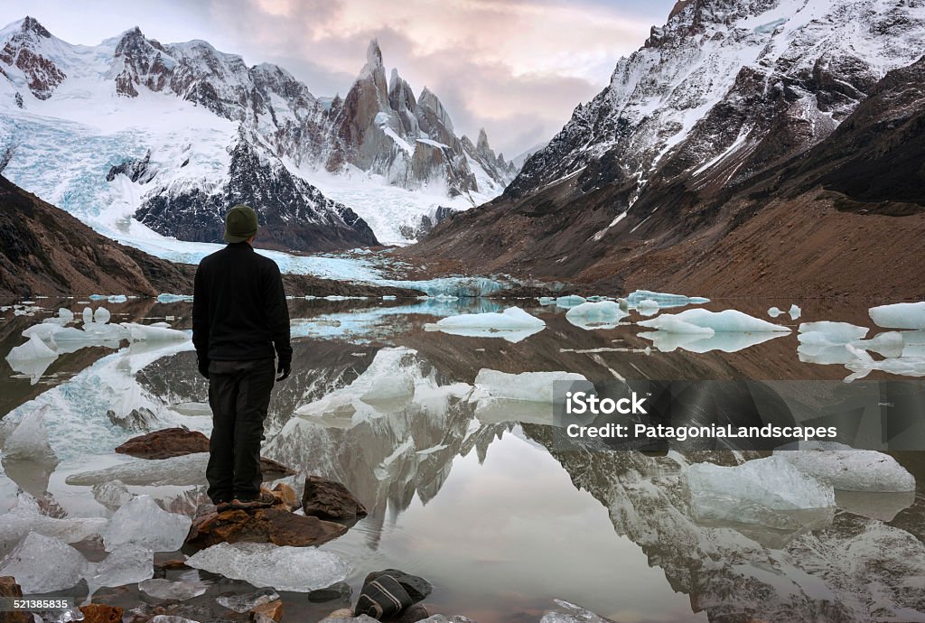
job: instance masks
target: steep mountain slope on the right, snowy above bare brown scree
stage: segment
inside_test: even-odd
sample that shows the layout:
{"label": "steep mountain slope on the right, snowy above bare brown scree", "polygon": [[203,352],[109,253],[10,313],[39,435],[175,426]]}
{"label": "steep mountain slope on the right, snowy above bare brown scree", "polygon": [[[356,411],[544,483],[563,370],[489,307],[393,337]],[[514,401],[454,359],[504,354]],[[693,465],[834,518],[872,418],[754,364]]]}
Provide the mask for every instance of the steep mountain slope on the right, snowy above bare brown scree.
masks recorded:
{"label": "steep mountain slope on the right, snowy above bare brown scree", "polygon": [[[783,284],[804,293],[857,287],[857,274],[814,262],[826,248],[843,266],[875,272],[870,287],[911,296],[909,287],[919,286],[904,257],[918,238],[902,250],[895,243],[922,231],[922,210],[866,204],[870,193],[847,189],[874,184],[879,202],[915,194],[919,181],[876,180],[891,166],[884,153],[921,140],[921,126],[907,123],[914,106],[896,103],[917,89],[909,79],[916,72],[904,68],[922,55],[922,41],[920,2],[679,2],[663,27],[620,59],[611,83],[527,158],[499,200],[453,216],[407,253],[482,272],[630,289],[701,287],[714,296],[764,282],[766,292]],[[883,110],[859,113],[873,93],[885,93],[876,99]],[[880,124],[882,117],[894,122]],[[843,125],[869,153],[845,153],[854,147],[839,139]],[[893,144],[883,142],[886,133]],[[908,160],[914,150],[906,151]],[[839,175],[855,181],[835,188],[826,167],[848,155],[881,168],[845,170]],[[921,180],[903,163],[897,172]],[[815,186],[804,183],[810,179]],[[830,187],[863,203],[850,212],[911,220],[860,227],[841,215],[845,197],[819,194]],[[818,225],[804,227],[810,222]]]}

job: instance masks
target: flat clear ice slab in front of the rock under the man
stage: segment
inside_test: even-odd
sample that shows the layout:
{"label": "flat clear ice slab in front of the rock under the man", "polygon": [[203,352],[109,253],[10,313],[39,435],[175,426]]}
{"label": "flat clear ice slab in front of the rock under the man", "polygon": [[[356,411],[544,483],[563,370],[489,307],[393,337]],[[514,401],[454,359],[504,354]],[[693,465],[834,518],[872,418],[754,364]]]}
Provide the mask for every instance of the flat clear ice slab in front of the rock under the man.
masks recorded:
{"label": "flat clear ice slab in front of the rock under the man", "polygon": [[257,543],[213,545],[191,556],[186,564],[254,586],[292,592],[323,589],[345,580],[352,570],[349,562],[330,552]]}

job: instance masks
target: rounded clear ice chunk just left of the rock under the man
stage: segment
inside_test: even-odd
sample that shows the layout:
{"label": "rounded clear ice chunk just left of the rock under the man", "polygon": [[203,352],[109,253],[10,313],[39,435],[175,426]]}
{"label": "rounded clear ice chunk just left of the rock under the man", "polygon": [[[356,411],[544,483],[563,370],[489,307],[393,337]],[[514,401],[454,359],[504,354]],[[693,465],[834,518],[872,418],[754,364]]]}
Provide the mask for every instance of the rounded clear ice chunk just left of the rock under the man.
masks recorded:
{"label": "rounded clear ice chunk just left of the rock under the man", "polygon": [[183,546],[191,523],[189,517],[158,507],[150,495],[139,495],[119,507],[109,519],[103,543],[107,552],[122,544],[142,545],[155,552],[173,552]]}

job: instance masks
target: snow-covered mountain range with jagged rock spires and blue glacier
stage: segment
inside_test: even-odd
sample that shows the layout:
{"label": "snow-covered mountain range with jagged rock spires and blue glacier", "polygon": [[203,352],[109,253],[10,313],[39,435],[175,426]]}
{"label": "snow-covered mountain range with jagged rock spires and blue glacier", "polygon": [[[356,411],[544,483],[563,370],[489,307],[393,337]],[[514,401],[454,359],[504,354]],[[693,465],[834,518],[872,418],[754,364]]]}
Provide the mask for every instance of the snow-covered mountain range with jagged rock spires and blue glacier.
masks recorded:
{"label": "snow-covered mountain range with jagged rock spires and blue glacier", "polygon": [[368,56],[344,99],[319,100],[203,41],[73,45],[25,18],[0,31],[5,175],[129,243],[217,241],[228,202],[252,203],[263,242],[293,250],[406,243],[499,194],[513,166]]}

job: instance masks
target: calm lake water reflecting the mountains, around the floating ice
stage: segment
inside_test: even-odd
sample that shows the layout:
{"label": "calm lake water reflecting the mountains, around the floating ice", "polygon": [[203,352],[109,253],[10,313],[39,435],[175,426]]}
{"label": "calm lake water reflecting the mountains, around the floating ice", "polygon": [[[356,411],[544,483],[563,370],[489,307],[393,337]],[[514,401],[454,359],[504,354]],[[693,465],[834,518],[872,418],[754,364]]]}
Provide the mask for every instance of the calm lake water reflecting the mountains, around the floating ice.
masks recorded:
{"label": "calm lake water reflecting the mountains, around the floating ice", "polygon": [[[786,310],[791,302],[723,300],[707,307],[767,319],[768,307]],[[783,315],[775,322],[872,326],[867,308],[886,301],[796,302],[799,320]],[[514,303],[547,327],[516,343],[423,328],[442,316]],[[43,310],[31,316],[6,311],[0,323],[4,353],[49,311],[85,307],[73,299],[36,304]],[[188,303],[102,304],[113,312],[112,322],[190,324]],[[274,390],[264,455],[299,471],[285,480],[297,489],[306,474],[320,474],[345,483],[369,509],[346,535],[322,546],[351,562],[354,592],[369,571],[401,568],[433,582],[435,591],[425,600],[432,613],[478,621],[537,620],[553,598],[619,621],[925,620],[921,453],[894,452],[916,477],[915,494],[842,493],[834,512],[797,524],[786,518],[707,524],[690,509],[685,470],[700,461],[734,464],[741,455],[562,452],[553,443],[549,406],[498,408],[472,393],[483,369],[566,371],[592,381],[848,386],[842,380],[851,371],[844,364],[801,355],[795,334],[716,345],[734,352],[697,352],[706,349],[702,345],[663,352],[658,347],[671,345],[653,348],[633,324],[589,330],[568,322],[564,310],[530,300],[294,300],[290,315],[297,336],[293,374]],[[634,314],[626,321],[638,319]],[[118,418],[143,407],[154,414],[155,429],[182,424],[208,433],[206,385],[189,342],[112,346],[80,348],[31,375],[0,364],[0,413],[16,421],[49,405],[45,425],[60,459],[54,470],[5,463],[0,511],[26,492],[58,517],[110,514],[90,487],[65,482],[68,475],[127,460],[112,448],[137,433],[111,421],[107,411]],[[875,371],[864,382],[900,380]],[[388,399],[370,398],[383,387],[404,389]],[[204,500],[203,483],[129,488],[192,514]],[[79,546],[91,559],[103,556],[98,545]],[[228,615],[215,605],[216,594],[252,589],[195,570],[168,577],[210,583],[209,592],[178,611],[197,620]],[[134,586],[102,589],[96,598],[126,607],[160,603]],[[287,620],[299,620],[290,618],[293,613],[314,620],[340,606],[310,605],[300,593],[285,593],[284,600]]]}

